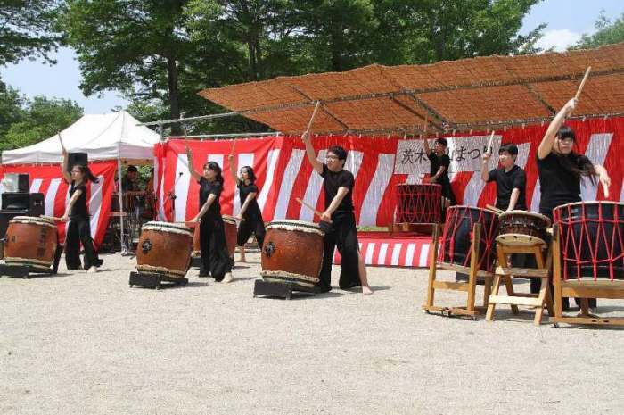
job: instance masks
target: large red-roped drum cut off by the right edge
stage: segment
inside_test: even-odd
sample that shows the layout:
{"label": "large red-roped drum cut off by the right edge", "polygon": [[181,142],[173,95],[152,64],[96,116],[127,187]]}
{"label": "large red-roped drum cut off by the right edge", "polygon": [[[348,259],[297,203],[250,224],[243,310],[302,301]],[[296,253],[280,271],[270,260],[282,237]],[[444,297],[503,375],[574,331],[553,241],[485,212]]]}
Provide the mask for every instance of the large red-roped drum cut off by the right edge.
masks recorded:
{"label": "large red-roped drum cut off by the right edge", "polygon": [[564,279],[624,279],[624,203],[563,204],[553,218]]}

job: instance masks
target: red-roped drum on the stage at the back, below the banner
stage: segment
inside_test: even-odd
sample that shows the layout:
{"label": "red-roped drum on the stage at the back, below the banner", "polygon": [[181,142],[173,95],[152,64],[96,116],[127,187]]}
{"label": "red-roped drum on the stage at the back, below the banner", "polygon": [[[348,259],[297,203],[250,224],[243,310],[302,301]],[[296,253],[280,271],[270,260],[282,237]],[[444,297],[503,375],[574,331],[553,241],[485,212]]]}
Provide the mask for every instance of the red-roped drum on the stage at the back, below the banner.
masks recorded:
{"label": "red-roped drum on the stage at the back, below the banner", "polygon": [[440,185],[397,185],[397,223],[439,223],[441,212]]}

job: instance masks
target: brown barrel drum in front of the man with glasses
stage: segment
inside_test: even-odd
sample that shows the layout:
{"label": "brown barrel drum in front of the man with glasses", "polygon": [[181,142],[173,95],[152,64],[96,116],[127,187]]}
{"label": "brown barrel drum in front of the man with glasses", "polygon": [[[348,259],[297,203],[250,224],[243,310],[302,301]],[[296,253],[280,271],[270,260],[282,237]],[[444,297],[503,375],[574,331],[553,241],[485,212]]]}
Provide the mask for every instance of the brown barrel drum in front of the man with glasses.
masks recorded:
{"label": "brown barrel drum in front of the man with glasses", "polygon": [[262,246],[262,278],[314,286],[323,265],[324,232],[316,223],[274,220]]}

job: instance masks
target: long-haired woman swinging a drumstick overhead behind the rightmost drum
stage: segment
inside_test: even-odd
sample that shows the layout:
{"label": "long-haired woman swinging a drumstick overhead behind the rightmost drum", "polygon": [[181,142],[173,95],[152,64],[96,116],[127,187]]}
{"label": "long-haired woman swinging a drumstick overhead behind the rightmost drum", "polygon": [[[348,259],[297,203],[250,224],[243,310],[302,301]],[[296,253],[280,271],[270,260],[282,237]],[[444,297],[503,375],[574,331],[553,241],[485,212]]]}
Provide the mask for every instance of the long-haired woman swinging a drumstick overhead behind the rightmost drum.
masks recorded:
{"label": "long-haired woman swinging a drumstick overhead behind the rightmost drum", "polygon": [[[574,151],[576,136],[574,130],[563,126],[563,122],[574,111],[576,99],[572,98],[554,117],[538,147],[538,173],[541,196],[539,213],[553,219],[553,209],[567,203],[580,202],[580,180],[587,178],[595,183],[598,177],[603,185],[604,195],[609,197],[611,178],[607,170],[593,164],[585,155]],[[531,278],[531,292],[538,292],[538,285]],[[577,303],[580,305],[579,299]],[[589,299],[589,307],[595,308],[595,299]],[[569,308],[564,299],[563,308]]]}

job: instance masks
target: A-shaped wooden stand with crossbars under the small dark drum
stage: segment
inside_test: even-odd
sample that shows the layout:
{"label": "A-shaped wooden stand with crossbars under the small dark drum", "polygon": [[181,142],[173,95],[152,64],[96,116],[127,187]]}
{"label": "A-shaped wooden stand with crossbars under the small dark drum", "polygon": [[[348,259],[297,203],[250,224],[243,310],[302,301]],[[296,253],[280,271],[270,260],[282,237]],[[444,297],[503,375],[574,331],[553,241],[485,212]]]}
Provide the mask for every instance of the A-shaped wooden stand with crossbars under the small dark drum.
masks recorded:
{"label": "A-shaped wooden stand with crossbars under the small dark drum", "polygon": [[[518,314],[518,305],[536,307],[535,319],[533,320],[533,323],[536,326],[539,326],[542,322],[542,314],[544,312],[545,305],[548,309],[548,314],[551,317],[554,316],[553,300],[550,295],[550,284],[548,281],[548,274],[552,263],[552,248],[548,249],[546,261],[544,261],[543,248],[544,245],[541,244],[505,245],[500,242],[497,243],[498,268],[494,278],[492,295],[489,296],[488,313],[485,318],[486,320],[493,320],[497,304],[511,305],[513,314]],[[510,267],[507,262],[507,255],[512,253],[529,253],[535,255],[538,268],[531,269]],[[539,294],[516,293],[513,291],[512,277],[540,278],[541,286],[539,288]],[[507,295],[498,295],[501,280],[505,283]]]}

